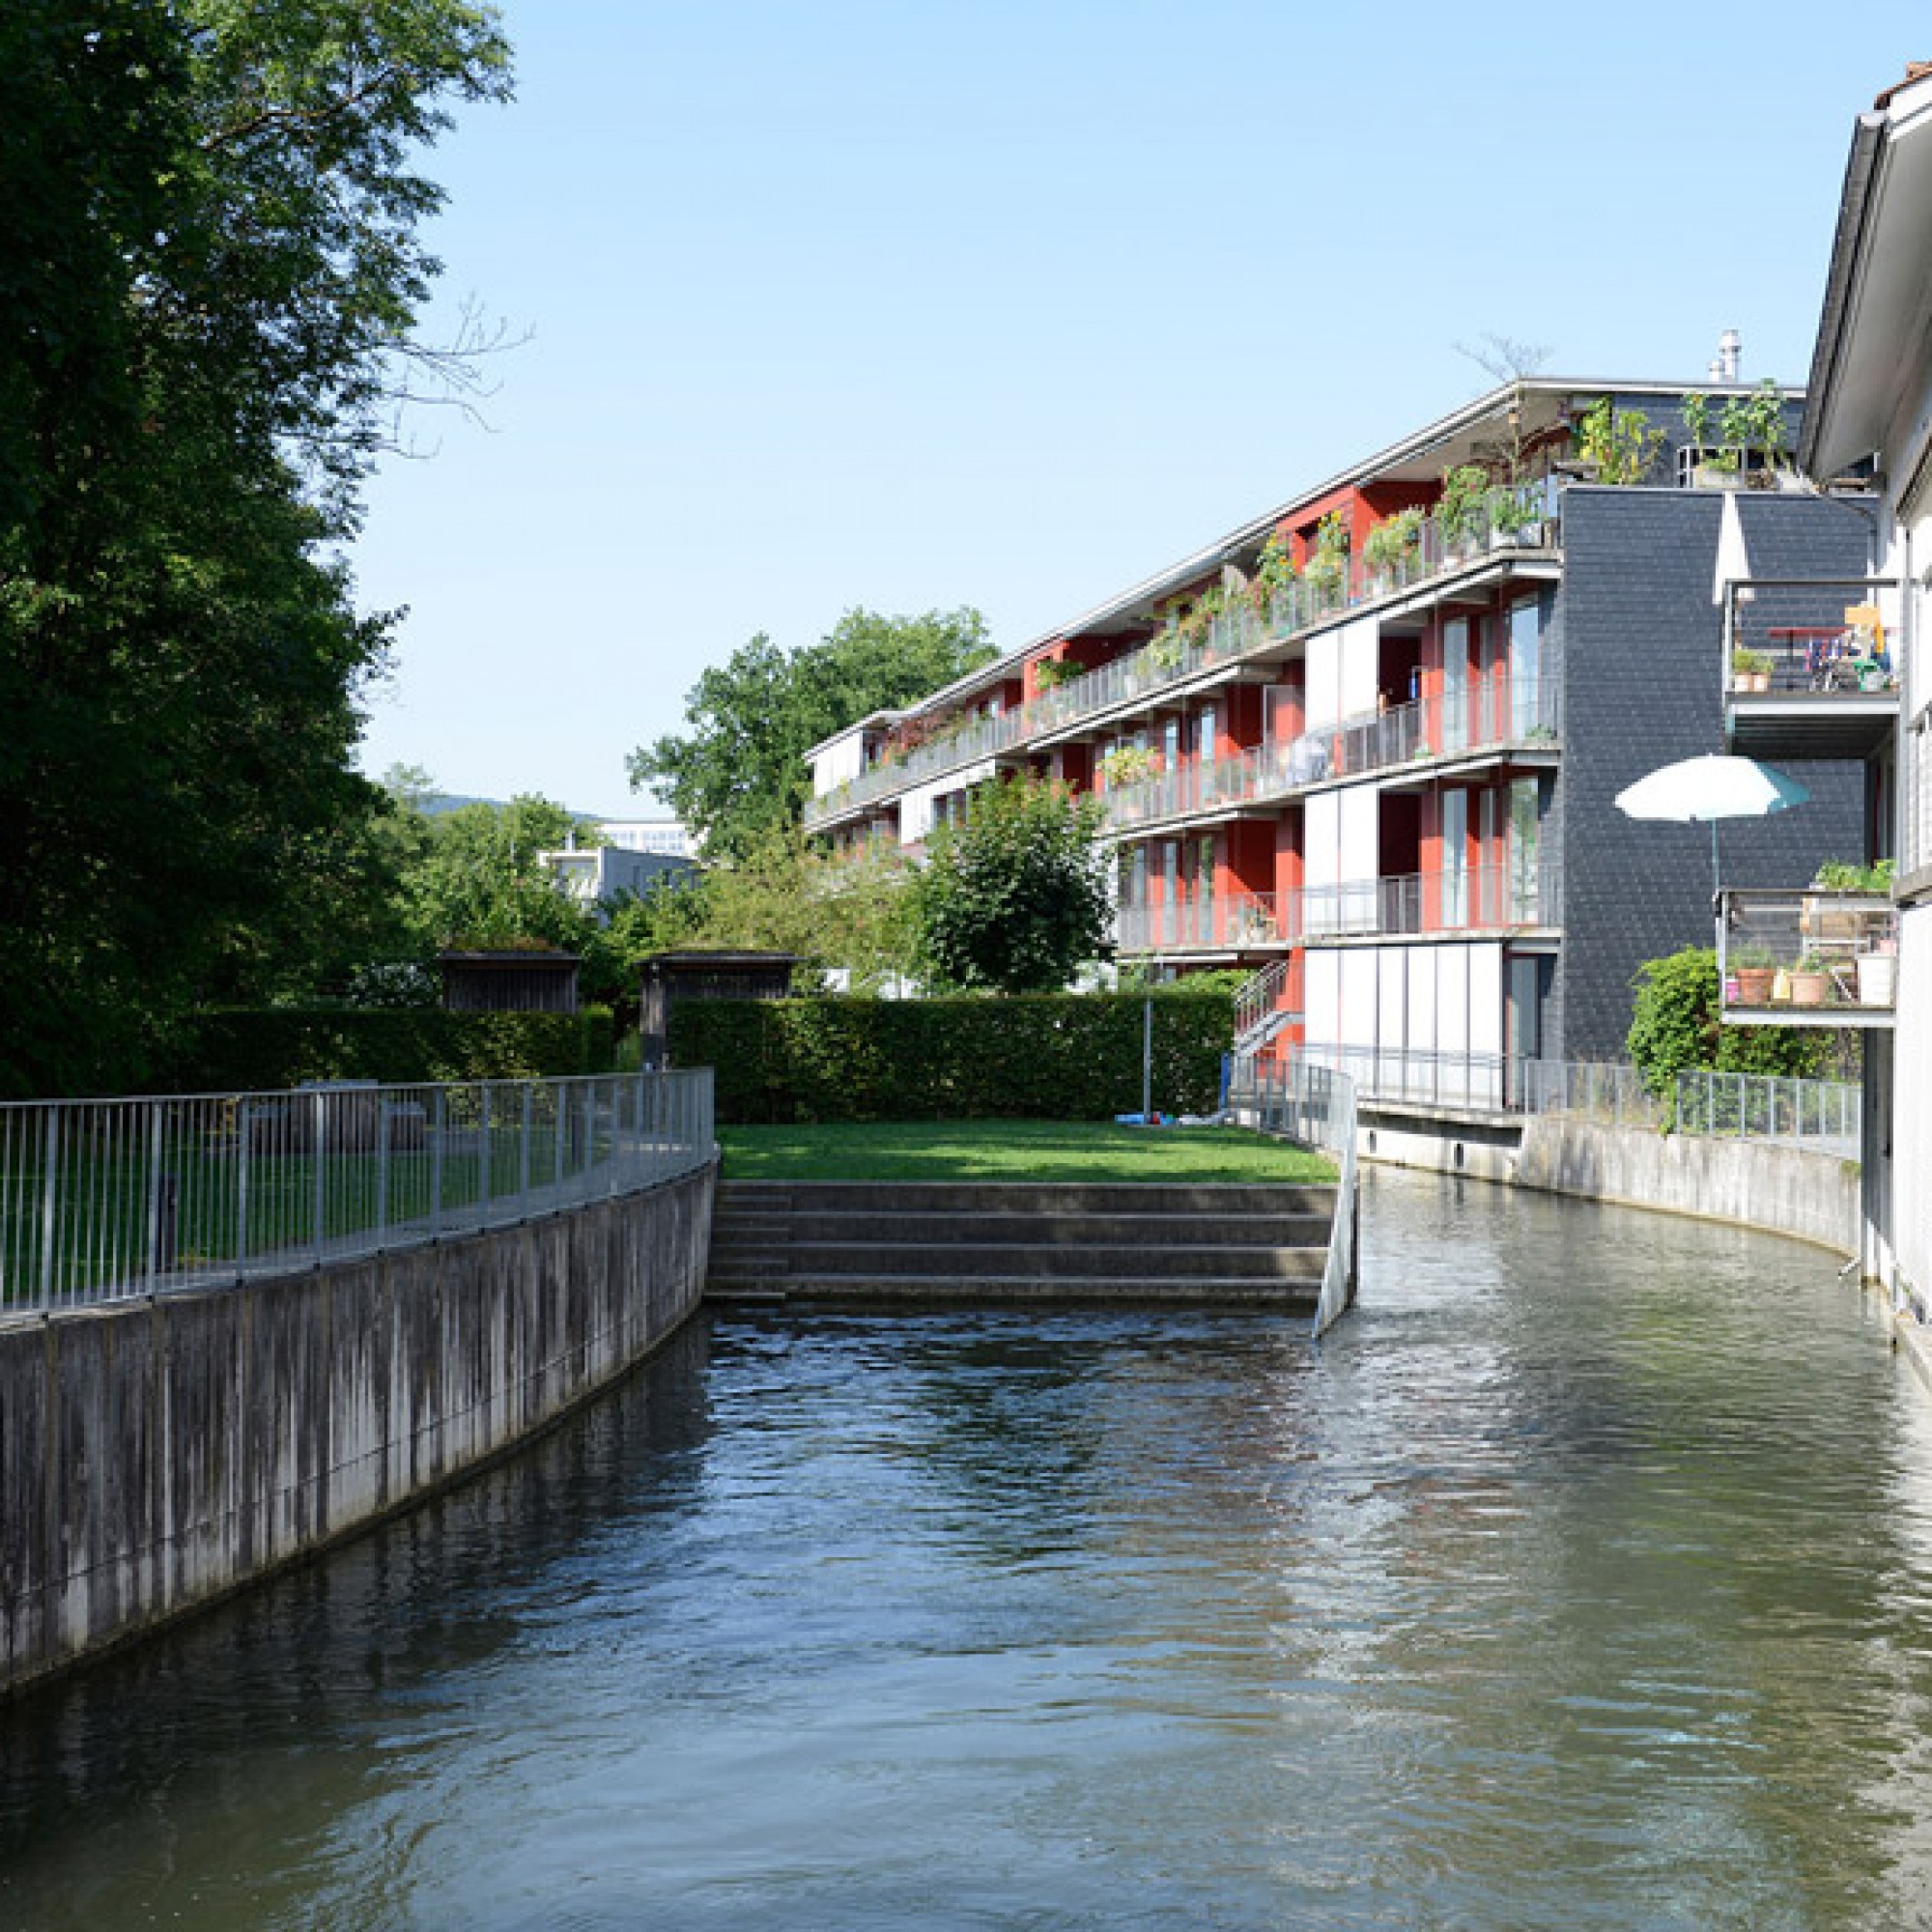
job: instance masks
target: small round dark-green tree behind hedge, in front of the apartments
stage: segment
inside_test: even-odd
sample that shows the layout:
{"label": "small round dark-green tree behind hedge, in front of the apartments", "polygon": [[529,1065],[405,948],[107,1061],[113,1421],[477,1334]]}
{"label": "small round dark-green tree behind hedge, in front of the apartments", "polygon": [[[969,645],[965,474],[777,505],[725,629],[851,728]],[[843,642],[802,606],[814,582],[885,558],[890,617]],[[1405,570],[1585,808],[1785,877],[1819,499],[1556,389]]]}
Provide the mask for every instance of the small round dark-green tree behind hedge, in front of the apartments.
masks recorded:
{"label": "small round dark-green tree behind hedge, in front of the apartments", "polygon": [[912,885],[920,958],[945,989],[1051,993],[1109,958],[1099,806],[1065,786],[995,781],[941,827]]}

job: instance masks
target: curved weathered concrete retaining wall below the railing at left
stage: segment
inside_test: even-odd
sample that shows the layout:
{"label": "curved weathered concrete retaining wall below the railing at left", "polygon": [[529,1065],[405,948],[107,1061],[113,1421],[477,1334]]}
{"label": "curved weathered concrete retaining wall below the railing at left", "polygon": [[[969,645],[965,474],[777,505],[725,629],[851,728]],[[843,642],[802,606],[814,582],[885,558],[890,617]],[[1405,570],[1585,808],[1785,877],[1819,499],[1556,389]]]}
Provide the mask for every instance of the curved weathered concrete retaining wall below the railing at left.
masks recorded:
{"label": "curved weathered concrete retaining wall below the railing at left", "polygon": [[466,1474],[697,1306],[715,1167],[375,1260],[0,1325],[0,1689]]}

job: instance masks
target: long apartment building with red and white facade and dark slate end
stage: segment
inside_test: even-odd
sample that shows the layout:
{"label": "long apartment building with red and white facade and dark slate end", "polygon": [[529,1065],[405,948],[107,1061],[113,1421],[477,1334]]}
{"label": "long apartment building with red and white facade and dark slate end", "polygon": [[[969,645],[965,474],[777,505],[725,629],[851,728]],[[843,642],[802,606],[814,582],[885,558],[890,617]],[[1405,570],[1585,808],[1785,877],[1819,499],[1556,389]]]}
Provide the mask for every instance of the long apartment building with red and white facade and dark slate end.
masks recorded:
{"label": "long apartment building with red and white facade and dark slate end", "polygon": [[[1638,964],[1708,943],[1714,879],[1706,827],[1611,800],[1719,748],[1727,583],[1866,554],[1779,460],[1795,396],[1690,394],[1505,384],[815,746],[808,829],[918,850],[987,777],[1053,777],[1103,802],[1121,958],[1265,976],[1256,1041],[1451,1068],[1472,1103],[1519,1057],[1615,1057]],[[1857,767],[1795,775],[1791,823],[1725,827],[1731,883],[1861,848]]]}

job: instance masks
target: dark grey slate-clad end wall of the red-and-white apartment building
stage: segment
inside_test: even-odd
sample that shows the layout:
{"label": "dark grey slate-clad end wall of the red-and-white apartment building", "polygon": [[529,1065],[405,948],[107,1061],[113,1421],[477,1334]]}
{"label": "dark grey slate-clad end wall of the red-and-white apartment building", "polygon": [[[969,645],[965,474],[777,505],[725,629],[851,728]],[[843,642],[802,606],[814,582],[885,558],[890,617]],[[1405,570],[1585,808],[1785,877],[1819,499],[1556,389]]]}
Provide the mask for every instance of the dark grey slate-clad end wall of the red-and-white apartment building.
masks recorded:
{"label": "dark grey slate-clad end wall of the red-and-white apartment building", "polygon": [[[1868,531],[1839,502],[1739,495],[1750,574],[1861,578]],[[1710,827],[1638,823],[1613,800],[1681,757],[1723,750],[1723,611],[1712,589],[1723,497],[1571,489],[1563,510],[1563,769],[1557,835],[1563,1059],[1621,1059],[1631,980],[1646,958],[1712,945]],[[1795,887],[1824,858],[1864,852],[1864,775],[1799,763],[1810,802],[1719,827],[1723,883]]]}

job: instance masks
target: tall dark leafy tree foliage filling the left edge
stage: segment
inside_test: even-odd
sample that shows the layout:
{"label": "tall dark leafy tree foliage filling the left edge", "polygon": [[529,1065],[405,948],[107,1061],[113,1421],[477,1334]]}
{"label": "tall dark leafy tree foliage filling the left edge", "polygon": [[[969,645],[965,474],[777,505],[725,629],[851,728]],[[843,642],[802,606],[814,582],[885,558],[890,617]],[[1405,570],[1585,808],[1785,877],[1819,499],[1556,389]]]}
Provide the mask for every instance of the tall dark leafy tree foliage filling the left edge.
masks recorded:
{"label": "tall dark leafy tree foliage filling the left edge", "polygon": [[504,91],[458,0],[0,8],[0,1090],[386,918],[340,545],[425,371],[413,156]]}

